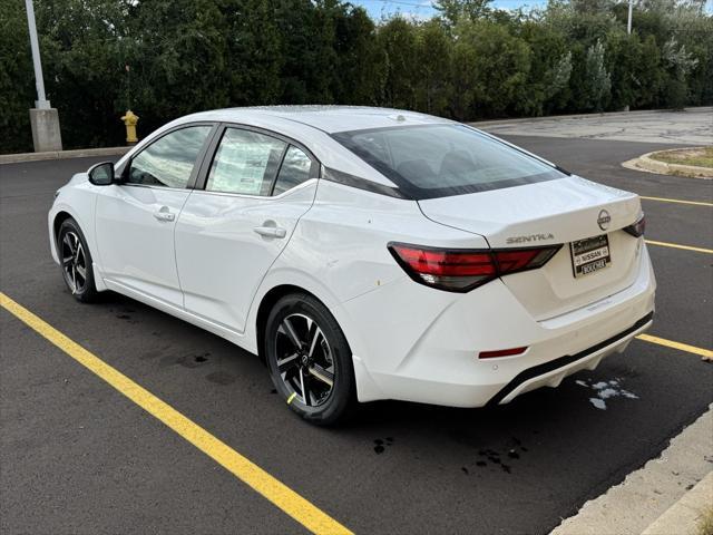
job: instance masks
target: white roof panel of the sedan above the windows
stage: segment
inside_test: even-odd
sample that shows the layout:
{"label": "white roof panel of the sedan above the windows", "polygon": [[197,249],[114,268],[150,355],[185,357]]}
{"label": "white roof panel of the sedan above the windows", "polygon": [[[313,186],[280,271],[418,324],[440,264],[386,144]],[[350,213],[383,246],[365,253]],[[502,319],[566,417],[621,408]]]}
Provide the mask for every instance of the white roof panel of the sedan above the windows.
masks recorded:
{"label": "white roof panel of the sedan above the windows", "polygon": [[293,126],[295,124],[310,126],[328,134],[390,126],[452,123],[416,111],[368,106],[255,106],[202,111],[185,117],[185,119],[188,118],[243,124],[275,123],[275,126],[279,123],[290,121]]}

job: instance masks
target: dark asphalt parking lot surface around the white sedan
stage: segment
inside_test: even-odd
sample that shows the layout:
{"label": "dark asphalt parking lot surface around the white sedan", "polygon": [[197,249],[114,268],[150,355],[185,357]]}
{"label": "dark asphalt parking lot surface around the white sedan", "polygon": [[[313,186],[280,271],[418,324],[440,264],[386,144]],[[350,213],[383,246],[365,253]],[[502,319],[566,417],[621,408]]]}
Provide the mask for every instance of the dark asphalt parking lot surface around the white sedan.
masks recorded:
{"label": "dark asphalt parking lot surface around the white sedan", "polygon": [[[658,242],[648,333],[712,348],[713,184],[619,166],[671,144],[507,137],[648,197],[647,239]],[[713,401],[713,364],[635,340],[597,370],[508,406],[378,402],[344,427],[313,428],[227,341],[117,294],[95,305],[71,298],[46,216],[57,187],[97,160],[0,166],[0,291],[355,533],[547,533]],[[0,331],[0,532],[305,532],[6,310]],[[602,381],[618,392],[605,408]]]}

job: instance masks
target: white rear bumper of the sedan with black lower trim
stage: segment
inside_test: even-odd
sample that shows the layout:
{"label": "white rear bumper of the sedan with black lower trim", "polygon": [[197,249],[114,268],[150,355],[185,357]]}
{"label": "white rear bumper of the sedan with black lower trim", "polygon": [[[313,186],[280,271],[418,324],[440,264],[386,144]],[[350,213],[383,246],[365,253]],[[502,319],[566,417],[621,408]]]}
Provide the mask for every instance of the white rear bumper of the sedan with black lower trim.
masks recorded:
{"label": "white rear bumper of the sedan with black lower trim", "polygon": [[[387,284],[343,303],[367,349],[354,357],[358,397],[481,407],[556,387],[624,351],[646,330],[655,288],[644,246],[632,285],[544,321],[536,321],[501,281],[466,294],[433,291],[410,280]],[[518,347],[528,349],[515,357],[478,359],[480,351]]]}

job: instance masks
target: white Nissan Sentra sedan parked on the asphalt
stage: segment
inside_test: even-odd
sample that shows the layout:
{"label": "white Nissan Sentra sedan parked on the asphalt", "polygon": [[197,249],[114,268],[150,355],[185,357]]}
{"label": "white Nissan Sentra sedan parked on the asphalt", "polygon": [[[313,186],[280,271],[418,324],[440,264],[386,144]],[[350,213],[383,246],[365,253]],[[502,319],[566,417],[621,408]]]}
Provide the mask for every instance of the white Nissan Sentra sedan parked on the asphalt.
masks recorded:
{"label": "white Nissan Sentra sedan parked on the asphalt", "polygon": [[356,401],[506,403],[652,322],[637,195],[470,126],[356,107],[205,111],[57,192],[51,252],[258,354],[315,424]]}

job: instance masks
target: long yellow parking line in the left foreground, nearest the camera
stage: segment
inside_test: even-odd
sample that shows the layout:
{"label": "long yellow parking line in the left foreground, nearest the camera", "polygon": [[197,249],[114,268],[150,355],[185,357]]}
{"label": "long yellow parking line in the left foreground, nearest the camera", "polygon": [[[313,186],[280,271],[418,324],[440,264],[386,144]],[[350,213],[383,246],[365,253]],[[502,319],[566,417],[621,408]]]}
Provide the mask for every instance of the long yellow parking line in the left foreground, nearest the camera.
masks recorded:
{"label": "long yellow parking line in the left foreground, nearest the camera", "polygon": [[235,477],[315,534],[350,534],[346,527],[320,510],[290,487],[267,474],[165,401],[87,351],[32,312],[0,292],[0,305],[57,346],[89,371],[108,382],[149,415],[176,431]]}

